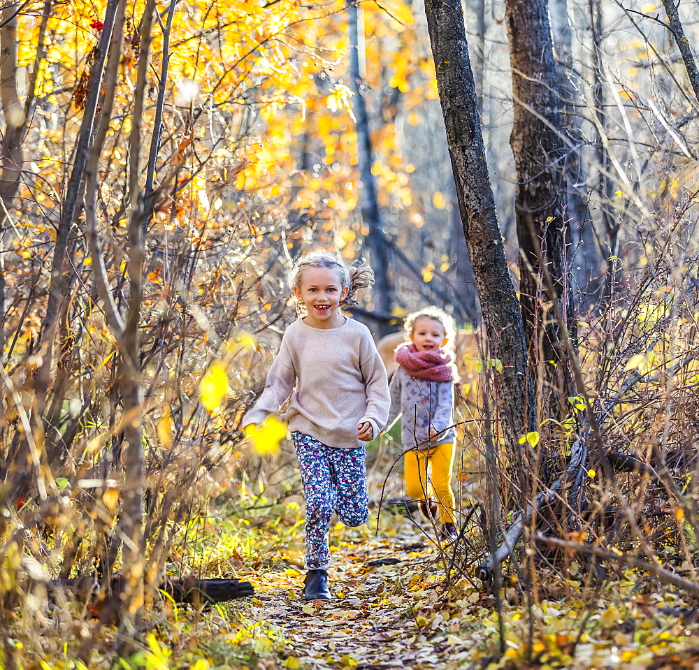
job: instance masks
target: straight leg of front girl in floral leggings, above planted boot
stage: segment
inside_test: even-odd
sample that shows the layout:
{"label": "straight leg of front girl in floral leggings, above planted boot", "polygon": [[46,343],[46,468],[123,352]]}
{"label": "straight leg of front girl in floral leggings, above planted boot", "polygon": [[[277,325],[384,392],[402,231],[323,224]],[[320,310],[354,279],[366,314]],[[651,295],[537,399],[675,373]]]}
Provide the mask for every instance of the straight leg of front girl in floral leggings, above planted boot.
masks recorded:
{"label": "straight leg of front girl in floral leggings, above planted boot", "polygon": [[294,432],[291,437],[294,438],[305,499],[306,569],[326,570],[330,563],[330,518],[336,505],[327,453],[329,447],[300,432]]}

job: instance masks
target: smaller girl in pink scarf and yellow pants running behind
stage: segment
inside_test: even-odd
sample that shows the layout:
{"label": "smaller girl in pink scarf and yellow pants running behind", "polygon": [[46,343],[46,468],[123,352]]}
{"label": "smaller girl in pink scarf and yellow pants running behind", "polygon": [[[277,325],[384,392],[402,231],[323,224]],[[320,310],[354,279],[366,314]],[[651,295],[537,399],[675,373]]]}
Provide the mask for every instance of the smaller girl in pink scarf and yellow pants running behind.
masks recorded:
{"label": "smaller girl in pink scarf and yellow pants running behind", "polygon": [[452,351],[446,347],[454,341],[454,319],[438,307],[428,307],[410,314],[405,330],[410,344],[396,349],[389,425],[402,416],[403,449],[413,447],[405,453],[406,495],[421,501],[431,520],[439,512],[440,542],[451,544],[456,539],[451,480],[458,376]]}

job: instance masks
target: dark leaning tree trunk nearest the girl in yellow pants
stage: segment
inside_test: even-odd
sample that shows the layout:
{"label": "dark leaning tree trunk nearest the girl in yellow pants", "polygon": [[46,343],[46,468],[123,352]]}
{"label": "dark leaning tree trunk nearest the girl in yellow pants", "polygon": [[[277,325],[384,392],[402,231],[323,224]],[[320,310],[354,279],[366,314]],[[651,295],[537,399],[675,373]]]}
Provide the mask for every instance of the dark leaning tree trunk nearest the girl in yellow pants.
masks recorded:
{"label": "dark leaning tree trunk nearest the girl in yellow pants", "polygon": [[461,2],[427,0],[425,10],[461,224],[488,336],[489,356],[503,365],[496,398],[508,474],[524,500],[533,461],[518,440],[528,430],[535,430],[536,416],[528,381],[524,327],[488,175]]}

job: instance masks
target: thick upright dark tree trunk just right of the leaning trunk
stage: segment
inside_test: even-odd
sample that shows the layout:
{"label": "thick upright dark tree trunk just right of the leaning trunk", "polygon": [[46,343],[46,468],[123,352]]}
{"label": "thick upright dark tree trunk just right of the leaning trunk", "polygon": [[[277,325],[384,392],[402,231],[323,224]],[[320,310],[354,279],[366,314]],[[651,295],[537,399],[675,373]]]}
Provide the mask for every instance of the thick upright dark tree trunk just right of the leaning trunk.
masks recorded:
{"label": "thick upright dark tree trunk just right of the leaning trunk", "polygon": [[[541,263],[554,280],[561,312],[572,326],[565,262],[570,243],[565,179],[565,130],[561,122],[556,63],[547,0],[505,0],[510,42],[514,126],[510,145],[517,168],[517,239],[519,295],[531,368],[546,416],[565,413],[563,398],[572,395],[567,356],[553,312],[545,303]],[[538,238],[535,240],[535,238]],[[541,259],[538,253],[541,248]]]}

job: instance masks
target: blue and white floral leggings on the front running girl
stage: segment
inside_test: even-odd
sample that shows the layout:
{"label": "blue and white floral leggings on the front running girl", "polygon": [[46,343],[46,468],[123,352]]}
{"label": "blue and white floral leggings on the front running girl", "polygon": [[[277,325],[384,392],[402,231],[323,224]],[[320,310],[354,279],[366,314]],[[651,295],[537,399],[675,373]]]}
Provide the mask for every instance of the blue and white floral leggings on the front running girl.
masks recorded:
{"label": "blue and white floral leggings on the front running girl", "polygon": [[333,511],[346,526],[362,525],[369,516],[366,449],[333,449],[301,432],[292,432],[291,437],[305,497],[305,567],[326,570],[330,565],[328,536]]}

